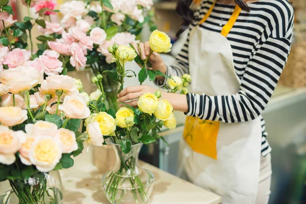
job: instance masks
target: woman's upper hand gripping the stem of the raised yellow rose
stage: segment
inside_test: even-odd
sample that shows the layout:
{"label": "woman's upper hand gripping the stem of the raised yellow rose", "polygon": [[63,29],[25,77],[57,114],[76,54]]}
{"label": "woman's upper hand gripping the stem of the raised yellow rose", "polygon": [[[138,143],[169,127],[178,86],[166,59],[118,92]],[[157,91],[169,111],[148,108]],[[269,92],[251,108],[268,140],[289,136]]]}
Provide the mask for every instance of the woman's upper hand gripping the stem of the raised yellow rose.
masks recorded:
{"label": "woman's upper hand gripping the stem of the raised yellow rose", "polygon": [[[146,58],[150,55],[151,48],[149,46],[149,41],[146,41],[145,43],[140,42],[139,47],[137,43],[132,43],[132,45],[135,47],[138,55],[141,57],[142,60],[146,60]],[[139,49],[140,48],[140,49]],[[153,52],[150,55],[150,58],[148,59],[148,62],[151,63],[152,67],[148,69],[153,69],[153,70],[160,70],[164,74],[166,73],[167,67],[162,60],[162,57],[160,54]],[[157,76],[158,79],[162,80],[164,77]]]}

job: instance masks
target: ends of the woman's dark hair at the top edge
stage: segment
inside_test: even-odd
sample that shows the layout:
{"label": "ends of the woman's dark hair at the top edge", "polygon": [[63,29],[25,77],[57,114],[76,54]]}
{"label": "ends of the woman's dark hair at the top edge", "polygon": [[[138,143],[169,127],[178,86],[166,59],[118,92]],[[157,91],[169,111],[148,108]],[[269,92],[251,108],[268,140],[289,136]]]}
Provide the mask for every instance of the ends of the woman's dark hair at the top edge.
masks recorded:
{"label": "ends of the woman's dark hair at the top edge", "polygon": [[[193,20],[193,11],[189,8],[193,0],[179,0],[176,12],[183,17],[183,24],[179,32],[176,33],[176,37],[179,37]],[[245,0],[235,0],[236,4],[246,12],[250,11],[250,8],[246,4]]]}

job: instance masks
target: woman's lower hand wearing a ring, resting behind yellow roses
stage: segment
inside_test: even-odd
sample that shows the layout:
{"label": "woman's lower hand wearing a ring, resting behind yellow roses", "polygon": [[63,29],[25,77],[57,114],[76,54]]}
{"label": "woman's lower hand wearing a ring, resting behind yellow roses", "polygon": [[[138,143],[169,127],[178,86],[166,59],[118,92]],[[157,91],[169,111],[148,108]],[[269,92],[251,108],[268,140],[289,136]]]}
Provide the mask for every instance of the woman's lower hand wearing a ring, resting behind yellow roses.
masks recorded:
{"label": "woman's lower hand wearing a ring, resting behind yellow roses", "polygon": [[[132,107],[137,107],[138,100],[136,99],[138,99],[144,93],[154,93],[156,90],[157,90],[156,88],[149,87],[146,85],[126,87],[117,95],[118,96],[117,101]],[[123,105],[119,104],[119,106]]]}

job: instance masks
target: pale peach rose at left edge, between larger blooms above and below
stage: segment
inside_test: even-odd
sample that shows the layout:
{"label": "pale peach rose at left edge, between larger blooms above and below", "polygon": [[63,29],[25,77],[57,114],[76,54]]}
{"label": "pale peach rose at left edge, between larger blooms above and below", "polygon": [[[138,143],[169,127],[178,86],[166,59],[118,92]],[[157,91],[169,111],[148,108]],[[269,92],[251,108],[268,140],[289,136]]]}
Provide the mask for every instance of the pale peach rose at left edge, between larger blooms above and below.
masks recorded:
{"label": "pale peach rose at left edge, between larger blooms above and below", "polygon": [[28,111],[22,110],[20,107],[0,107],[0,122],[7,126],[21,124],[28,119]]}

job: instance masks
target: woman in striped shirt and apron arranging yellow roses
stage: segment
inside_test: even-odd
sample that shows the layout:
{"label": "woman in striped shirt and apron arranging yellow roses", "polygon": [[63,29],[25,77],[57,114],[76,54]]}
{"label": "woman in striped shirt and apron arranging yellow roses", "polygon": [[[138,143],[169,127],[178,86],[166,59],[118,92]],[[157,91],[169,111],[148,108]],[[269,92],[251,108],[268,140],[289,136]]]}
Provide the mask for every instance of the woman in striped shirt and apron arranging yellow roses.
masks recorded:
{"label": "woman in striped shirt and apron arranging yellow roses", "polygon": [[[268,203],[271,148],[261,113],[287,61],[293,21],[287,0],[203,0],[176,62],[166,66],[156,53],[149,59],[167,75],[191,74],[191,93],[162,97],[189,116],[180,157],[188,179],[221,195],[222,203]],[[140,48],[145,59],[148,42]],[[154,91],[128,87],[118,101]]]}

